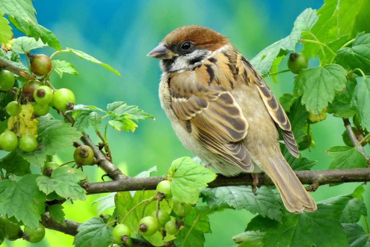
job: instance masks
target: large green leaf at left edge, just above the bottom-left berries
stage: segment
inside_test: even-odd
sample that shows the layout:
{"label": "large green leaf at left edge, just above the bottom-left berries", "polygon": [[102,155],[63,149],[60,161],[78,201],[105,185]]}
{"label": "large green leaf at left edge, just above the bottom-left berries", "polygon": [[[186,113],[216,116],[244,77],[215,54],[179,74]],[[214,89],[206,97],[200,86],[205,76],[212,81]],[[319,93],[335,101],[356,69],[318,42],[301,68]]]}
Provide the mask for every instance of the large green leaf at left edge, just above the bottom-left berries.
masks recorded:
{"label": "large green leaf at left edge, just above the bottom-left berries", "polygon": [[9,179],[0,181],[0,201],[8,217],[15,216],[18,221],[31,228],[37,228],[40,214],[45,213],[46,196],[36,185],[39,174],[26,174],[19,181]]}

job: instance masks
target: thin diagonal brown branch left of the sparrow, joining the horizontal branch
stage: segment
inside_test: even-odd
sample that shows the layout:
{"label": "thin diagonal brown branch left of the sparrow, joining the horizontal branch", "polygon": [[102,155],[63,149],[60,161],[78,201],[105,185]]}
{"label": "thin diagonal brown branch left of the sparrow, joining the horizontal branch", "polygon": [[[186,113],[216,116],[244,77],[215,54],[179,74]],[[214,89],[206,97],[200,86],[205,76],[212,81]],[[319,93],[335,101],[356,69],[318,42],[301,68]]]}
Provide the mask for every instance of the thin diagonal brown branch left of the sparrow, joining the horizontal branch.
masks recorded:
{"label": "thin diagonal brown branch left of the sparrow, joining the horizontal branch", "polygon": [[[74,123],[74,119],[71,116],[70,113],[62,113],[62,116],[65,120],[67,120],[70,123]],[[107,175],[112,180],[125,180],[127,178],[126,175],[124,175],[121,170],[114,166],[110,160],[108,160],[107,156],[105,156],[99,148],[94,144],[94,142],[90,139],[88,134],[85,132],[82,133],[82,137],[80,138],[81,141],[92,148],[92,151],[94,151],[94,156],[98,159],[98,166],[107,173]]]}

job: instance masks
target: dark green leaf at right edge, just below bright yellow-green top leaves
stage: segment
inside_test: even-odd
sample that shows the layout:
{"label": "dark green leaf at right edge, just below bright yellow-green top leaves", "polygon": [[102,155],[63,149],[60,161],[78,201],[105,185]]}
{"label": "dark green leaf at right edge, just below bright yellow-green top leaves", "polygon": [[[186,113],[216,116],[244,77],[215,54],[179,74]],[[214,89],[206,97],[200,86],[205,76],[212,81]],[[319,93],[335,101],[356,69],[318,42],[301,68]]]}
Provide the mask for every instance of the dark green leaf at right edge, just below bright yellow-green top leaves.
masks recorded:
{"label": "dark green leaf at right edge, just below bright yellow-green top leaves", "polygon": [[359,68],[370,74],[370,33],[360,33],[352,43],[352,47],[344,47],[337,51],[335,61],[346,69]]}

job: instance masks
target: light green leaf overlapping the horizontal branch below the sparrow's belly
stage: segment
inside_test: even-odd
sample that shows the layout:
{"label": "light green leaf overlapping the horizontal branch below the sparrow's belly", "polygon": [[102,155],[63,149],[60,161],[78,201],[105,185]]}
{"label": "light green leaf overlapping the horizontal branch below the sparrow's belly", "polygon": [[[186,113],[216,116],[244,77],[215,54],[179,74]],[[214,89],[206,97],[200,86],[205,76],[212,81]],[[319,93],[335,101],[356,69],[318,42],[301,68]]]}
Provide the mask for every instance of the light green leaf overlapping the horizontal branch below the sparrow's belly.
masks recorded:
{"label": "light green leaf overlapping the horizontal branch below the sparrow's belly", "polygon": [[182,157],[171,164],[172,196],[181,202],[198,203],[198,190],[207,187],[207,183],[216,178],[209,168],[196,164],[190,157]]}

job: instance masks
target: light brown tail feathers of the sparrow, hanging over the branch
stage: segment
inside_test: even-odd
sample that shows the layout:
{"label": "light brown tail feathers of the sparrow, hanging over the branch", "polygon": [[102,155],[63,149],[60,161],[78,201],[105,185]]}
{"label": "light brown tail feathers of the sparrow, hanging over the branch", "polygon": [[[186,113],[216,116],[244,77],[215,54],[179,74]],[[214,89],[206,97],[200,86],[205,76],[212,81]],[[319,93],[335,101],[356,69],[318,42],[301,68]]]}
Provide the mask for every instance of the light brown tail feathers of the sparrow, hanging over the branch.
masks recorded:
{"label": "light brown tail feathers of the sparrow, hanging over the branch", "polygon": [[317,209],[315,201],[300,183],[284,157],[264,157],[264,160],[263,168],[279,190],[288,211],[301,213],[303,210],[313,212]]}

